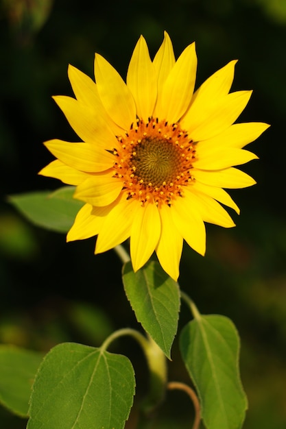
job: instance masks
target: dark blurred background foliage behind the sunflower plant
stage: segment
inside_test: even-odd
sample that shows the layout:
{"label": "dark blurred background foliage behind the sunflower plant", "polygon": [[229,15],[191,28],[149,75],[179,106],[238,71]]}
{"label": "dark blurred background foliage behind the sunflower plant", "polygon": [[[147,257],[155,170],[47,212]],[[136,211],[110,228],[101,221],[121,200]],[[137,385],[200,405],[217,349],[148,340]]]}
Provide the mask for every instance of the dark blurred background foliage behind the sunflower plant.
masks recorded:
{"label": "dark blurred background foliage behind the sunflower plant", "polygon": [[[231,192],[237,227],[207,225],[202,258],[184,247],[180,286],[203,313],[230,317],[241,335],[241,376],[248,394],[245,429],[286,427],[286,1],[1,0],[0,10],[0,342],[47,352],[62,341],[99,345],[114,329],[138,328],[113,252],[94,256],[95,240],[65,243],[34,227],[7,196],[55,189],[37,172],[51,159],[42,142],[75,138],[51,95],[72,95],[67,65],[93,77],[94,52],[126,76],[143,34],[154,56],[169,32],[176,56],[193,40],[198,85],[238,58],[234,90],[254,89],[240,121],[272,127],[251,145],[260,158],[243,167],[258,184]],[[189,314],[182,307],[180,328]],[[132,340],[116,352],[132,359],[137,395],[145,361]],[[170,380],[189,382],[178,345]],[[154,428],[190,428],[192,406],[170,392]],[[134,420],[133,420],[134,419]],[[128,428],[134,428],[136,412]],[[1,427],[26,421],[0,408]]]}

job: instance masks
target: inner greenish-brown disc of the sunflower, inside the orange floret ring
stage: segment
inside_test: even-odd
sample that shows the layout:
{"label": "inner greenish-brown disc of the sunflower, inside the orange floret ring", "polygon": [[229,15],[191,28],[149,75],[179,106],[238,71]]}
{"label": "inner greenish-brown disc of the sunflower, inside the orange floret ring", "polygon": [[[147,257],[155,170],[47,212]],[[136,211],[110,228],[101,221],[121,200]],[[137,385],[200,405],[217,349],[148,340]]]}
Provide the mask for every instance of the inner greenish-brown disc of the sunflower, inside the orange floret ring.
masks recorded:
{"label": "inner greenish-brown disc of the sunflower, inside the orange floret ring", "polygon": [[165,138],[147,136],[138,143],[130,162],[135,177],[144,186],[161,186],[174,181],[180,169],[180,153]]}

